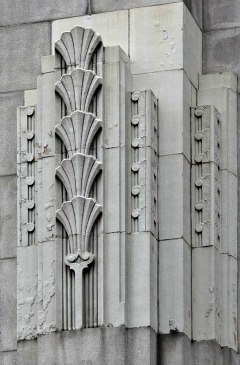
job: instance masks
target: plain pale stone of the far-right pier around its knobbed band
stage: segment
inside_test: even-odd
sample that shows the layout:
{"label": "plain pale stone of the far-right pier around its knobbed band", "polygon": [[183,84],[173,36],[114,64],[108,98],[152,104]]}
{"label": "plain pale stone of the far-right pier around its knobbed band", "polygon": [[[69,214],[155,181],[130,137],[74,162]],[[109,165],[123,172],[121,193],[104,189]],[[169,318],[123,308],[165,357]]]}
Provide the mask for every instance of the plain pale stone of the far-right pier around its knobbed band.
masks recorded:
{"label": "plain pale stone of the far-right pier around its knobbed band", "polygon": [[[232,73],[203,75],[199,79],[198,105],[211,103],[220,113],[221,136],[217,141],[221,151],[220,171],[218,167],[209,176],[213,178],[214,189],[218,189],[216,176],[221,184],[216,194],[218,200],[214,199],[213,189],[209,196],[212,231],[218,239],[209,237],[205,245],[212,247],[193,249],[193,338],[216,339],[221,346],[234,350],[238,348],[236,91],[237,78]],[[209,139],[212,151],[215,141],[216,138]]]}

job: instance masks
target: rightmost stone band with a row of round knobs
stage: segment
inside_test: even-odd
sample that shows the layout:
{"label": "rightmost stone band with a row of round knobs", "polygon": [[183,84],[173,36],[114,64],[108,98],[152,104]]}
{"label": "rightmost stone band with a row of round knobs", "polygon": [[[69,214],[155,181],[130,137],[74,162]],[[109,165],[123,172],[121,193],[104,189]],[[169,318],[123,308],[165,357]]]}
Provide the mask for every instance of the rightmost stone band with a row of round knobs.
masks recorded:
{"label": "rightmost stone band with a row of round knobs", "polygon": [[193,109],[193,246],[220,247],[221,122],[214,107]]}

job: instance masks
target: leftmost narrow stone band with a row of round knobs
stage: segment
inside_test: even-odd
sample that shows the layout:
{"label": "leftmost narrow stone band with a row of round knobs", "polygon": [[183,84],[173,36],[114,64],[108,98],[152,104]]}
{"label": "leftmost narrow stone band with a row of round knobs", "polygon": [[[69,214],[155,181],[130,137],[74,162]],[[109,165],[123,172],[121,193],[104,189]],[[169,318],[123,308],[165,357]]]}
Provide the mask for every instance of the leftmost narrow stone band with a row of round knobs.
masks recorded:
{"label": "leftmost narrow stone band with a row of round knobs", "polygon": [[18,245],[35,244],[35,107],[18,109]]}

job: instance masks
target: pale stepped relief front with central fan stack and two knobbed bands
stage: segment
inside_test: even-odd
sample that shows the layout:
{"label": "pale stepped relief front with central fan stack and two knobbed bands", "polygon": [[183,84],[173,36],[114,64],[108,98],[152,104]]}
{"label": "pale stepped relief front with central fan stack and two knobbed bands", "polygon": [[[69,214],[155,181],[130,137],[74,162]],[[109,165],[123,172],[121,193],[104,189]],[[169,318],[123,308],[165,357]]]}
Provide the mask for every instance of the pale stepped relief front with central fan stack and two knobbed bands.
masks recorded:
{"label": "pale stepped relief front with central fan stack and two knobbed bands", "polygon": [[[137,249],[138,236],[126,239],[131,233],[139,234],[146,246],[141,260],[150,258],[145,287],[151,294],[151,278],[157,287],[157,99],[150,90],[129,92],[128,57],[119,47],[104,49],[91,29],[64,32],[55,51],[55,67],[38,78],[37,109],[19,108],[18,244],[26,246],[18,250],[19,340],[101,326],[108,321],[104,306],[123,324],[125,244],[133,248],[131,254]],[[116,171],[120,186],[115,197],[109,181],[116,181]],[[114,297],[104,290],[112,280],[108,272],[118,270],[116,263],[120,289]],[[157,317],[155,299],[151,308]],[[139,308],[131,299],[131,311],[135,306]],[[148,299],[142,310],[148,323]]]}

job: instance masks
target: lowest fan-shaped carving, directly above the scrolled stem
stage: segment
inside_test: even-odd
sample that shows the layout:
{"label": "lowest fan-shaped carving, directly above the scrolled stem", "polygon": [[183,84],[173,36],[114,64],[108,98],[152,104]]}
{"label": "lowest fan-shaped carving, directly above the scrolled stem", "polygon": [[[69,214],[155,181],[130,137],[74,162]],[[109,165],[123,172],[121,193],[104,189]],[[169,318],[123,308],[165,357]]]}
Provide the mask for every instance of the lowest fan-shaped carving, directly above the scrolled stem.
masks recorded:
{"label": "lowest fan-shaped carving, directly above the scrolled stem", "polygon": [[56,217],[64,226],[70,243],[69,253],[88,251],[88,239],[92,227],[102,212],[102,206],[92,198],[76,196],[62,204]]}

